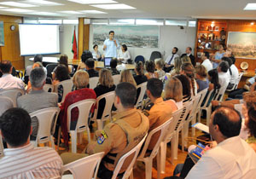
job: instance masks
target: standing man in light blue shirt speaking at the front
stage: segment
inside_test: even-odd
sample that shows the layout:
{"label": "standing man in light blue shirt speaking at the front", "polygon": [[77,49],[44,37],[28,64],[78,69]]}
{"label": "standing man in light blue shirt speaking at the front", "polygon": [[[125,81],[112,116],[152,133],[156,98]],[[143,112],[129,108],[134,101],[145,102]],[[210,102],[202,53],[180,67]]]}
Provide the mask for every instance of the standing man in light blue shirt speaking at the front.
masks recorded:
{"label": "standing man in light blue shirt speaking at the front", "polygon": [[104,41],[103,50],[106,50],[105,57],[117,58],[116,50],[119,49],[120,45],[118,40],[114,39],[114,32],[110,31],[109,38]]}

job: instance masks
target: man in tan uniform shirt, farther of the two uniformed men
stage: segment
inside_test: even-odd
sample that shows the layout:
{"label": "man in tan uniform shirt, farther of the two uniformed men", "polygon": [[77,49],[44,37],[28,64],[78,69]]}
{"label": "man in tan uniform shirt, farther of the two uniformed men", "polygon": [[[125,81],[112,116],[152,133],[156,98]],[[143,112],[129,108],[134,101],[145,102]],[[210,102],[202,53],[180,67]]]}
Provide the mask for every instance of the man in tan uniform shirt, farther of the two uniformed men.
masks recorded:
{"label": "man in tan uniform shirt, farther of the two uniformed men", "polygon": [[[163,101],[161,97],[163,91],[163,83],[158,78],[148,79],[146,93],[150,101],[143,107],[143,113],[148,116],[149,131],[154,130],[167,120],[172,118],[172,106]],[[158,135],[155,135],[149,145],[148,152],[154,148],[155,142],[158,140]]]}

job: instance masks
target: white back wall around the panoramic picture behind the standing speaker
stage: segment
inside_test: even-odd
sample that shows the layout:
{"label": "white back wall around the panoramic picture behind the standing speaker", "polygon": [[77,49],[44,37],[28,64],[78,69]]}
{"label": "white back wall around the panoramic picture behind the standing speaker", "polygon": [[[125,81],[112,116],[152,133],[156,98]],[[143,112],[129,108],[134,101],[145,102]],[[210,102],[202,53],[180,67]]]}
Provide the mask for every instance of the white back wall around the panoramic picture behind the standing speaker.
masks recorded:
{"label": "white back wall around the panoramic picture behind the standing speaker", "polygon": [[[114,31],[114,29],[113,29]],[[134,59],[137,55],[143,55],[146,60],[149,59],[152,51],[160,51],[164,59],[172,53],[172,48],[178,48],[178,54],[184,53],[186,47],[195,47],[195,27],[184,27],[180,29],[179,26],[160,26],[160,41],[159,48],[146,49],[146,48],[129,48],[131,58]],[[90,26],[90,50],[93,47],[93,27]],[[99,46],[102,51],[102,46]]]}

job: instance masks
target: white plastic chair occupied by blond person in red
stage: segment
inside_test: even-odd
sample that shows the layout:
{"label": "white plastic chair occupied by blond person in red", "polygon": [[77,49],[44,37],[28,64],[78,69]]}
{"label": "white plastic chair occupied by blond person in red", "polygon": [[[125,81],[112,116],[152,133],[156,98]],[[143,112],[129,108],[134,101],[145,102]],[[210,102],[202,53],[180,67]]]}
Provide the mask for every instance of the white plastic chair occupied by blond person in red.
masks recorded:
{"label": "white plastic chair occupied by blond person in red", "polygon": [[[90,142],[90,128],[88,126],[88,118],[90,117],[90,109],[95,104],[96,100],[87,99],[73,103],[69,107],[67,107],[67,132],[71,135],[72,141],[72,153],[77,153],[77,134],[83,134],[85,130],[87,131],[88,141]],[[71,112],[72,109],[78,107],[79,108],[79,118],[76,124],[75,130],[70,130],[71,123]],[[81,143],[82,137],[79,138],[79,143]],[[58,137],[58,141],[60,141],[60,136]]]}

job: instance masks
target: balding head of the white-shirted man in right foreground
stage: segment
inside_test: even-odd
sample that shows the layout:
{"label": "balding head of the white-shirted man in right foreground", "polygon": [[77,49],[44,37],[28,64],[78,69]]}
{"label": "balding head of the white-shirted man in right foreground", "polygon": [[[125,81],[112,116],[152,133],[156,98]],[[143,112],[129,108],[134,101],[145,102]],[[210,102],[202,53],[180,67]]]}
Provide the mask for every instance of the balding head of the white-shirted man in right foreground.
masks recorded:
{"label": "balding head of the white-shirted man in right foreground", "polygon": [[218,107],[212,113],[212,127],[218,125],[218,130],[224,138],[239,136],[241,130],[241,115],[230,107]]}

